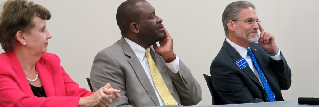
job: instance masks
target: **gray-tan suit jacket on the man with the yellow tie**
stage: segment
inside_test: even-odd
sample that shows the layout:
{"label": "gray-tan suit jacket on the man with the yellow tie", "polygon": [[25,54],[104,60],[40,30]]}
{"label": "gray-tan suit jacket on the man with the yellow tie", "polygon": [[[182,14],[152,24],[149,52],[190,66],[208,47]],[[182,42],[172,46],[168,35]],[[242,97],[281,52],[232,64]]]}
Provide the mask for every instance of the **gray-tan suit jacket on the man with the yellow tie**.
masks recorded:
{"label": "gray-tan suit jacket on the man with the yellow tie", "polygon": [[[173,73],[161,56],[150,51],[168,90],[178,104],[195,105],[202,100],[200,85],[182,61],[179,72]],[[90,81],[93,90],[98,90],[105,83],[121,90],[122,97],[113,99],[110,107],[160,105],[142,64],[123,37],[95,56]]]}

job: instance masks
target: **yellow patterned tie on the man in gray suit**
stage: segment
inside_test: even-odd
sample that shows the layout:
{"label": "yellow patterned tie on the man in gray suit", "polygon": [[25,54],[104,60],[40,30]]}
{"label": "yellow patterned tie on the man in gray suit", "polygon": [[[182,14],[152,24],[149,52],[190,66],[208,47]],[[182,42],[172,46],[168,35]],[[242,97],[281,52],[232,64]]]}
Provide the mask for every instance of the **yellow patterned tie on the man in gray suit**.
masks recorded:
{"label": "yellow patterned tie on the man in gray suit", "polygon": [[145,55],[148,58],[148,64],[150,65],[150,70],[152,74],[152,78],[155,84],[157,91],[159,92],[159,96],[163,99],[165,105],[178,105],[175,101],[172,94],[169,92],[162,75],[160,75],[159,70],[157,69],[151,53],[149,50],[145,51]]}

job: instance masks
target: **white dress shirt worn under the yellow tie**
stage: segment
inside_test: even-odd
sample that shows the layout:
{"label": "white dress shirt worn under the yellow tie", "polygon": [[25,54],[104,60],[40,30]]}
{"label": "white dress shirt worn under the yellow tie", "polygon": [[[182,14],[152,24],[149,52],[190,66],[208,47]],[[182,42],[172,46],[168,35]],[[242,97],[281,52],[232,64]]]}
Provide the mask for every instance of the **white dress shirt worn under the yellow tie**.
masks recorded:
{"label": "white dress shirt worn under the yellow tie", "polygon": [[[150,71],[150,65],[148,64],[148,58],[146,57],[145,55],[145,49],[136,44],[135,42],[127,39],[126,37],[124,37],[125,41],[130,45],[130,47],[132,48],[132,50],[134,51],[135,55],[137,56],[138,60],[140,61],[140,63],[142,64],[146,74],[147,74],[147,77],[148,79],[151,81],[151,84],[154,88],[154,91],[156,93],[156,96],[157,98],[159,99],[159,104],[162,106],[162,105],[165,105],[164,104],[164,101],[162,100],[162,98],[159,96],[159,93],[154,85],[154,82],[153,82],[153,79],[152,79],[152,75],[151,75],[151,71]],[[151,46],[152,47],[152,46]],[[148,48],[147,50],[150,50],[150,48]],[[152,56],[154,57],[154,56]],[[179,58],[176,56],[176,59],[171,62],[171,63],[166,63],[167,67],[169,70],[171,70],[172,72],[174,73],[178,73],[178,70],[179,70]]]}

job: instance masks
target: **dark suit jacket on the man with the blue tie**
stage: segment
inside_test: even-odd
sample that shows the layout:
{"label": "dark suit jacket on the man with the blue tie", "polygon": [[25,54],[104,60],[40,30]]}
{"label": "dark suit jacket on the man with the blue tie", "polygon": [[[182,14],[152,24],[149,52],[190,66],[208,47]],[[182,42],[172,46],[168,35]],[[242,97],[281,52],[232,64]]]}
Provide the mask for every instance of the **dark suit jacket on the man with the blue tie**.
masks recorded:
{"label": "dark suit jacket on the man with the blue tie", "polygon": [[[276,101],[284,101],[280,90],[288,90],[291,85],[291,71],[285,57],[271,59],[257,43],[249,45],[257,62],[273,91]],[[281,52],[282,53],[282,52]],[[211,63],[211,79],[214,89],[225,104],[267,102],[263,86],[249,66],[240,69],[235,63],[242,57],[226,41]]]}

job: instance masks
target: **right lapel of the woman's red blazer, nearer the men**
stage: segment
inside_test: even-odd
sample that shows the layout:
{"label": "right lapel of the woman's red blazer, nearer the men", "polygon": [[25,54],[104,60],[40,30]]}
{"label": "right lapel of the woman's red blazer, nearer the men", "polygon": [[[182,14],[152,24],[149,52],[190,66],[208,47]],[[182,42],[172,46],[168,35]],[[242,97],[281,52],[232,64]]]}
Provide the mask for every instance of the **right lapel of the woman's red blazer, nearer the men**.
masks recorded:
{"label": "right lapel of the woman's red blazer, nearer the men", "polygon": [[47,97],[56,96],[52,81],[52,74],[50,73],[50,64],[40,59],[39,62],[35,64],[35,68],[38,70],[38,74]]}

